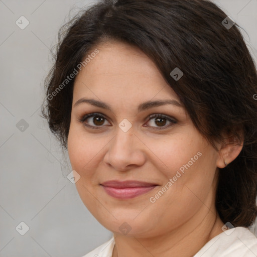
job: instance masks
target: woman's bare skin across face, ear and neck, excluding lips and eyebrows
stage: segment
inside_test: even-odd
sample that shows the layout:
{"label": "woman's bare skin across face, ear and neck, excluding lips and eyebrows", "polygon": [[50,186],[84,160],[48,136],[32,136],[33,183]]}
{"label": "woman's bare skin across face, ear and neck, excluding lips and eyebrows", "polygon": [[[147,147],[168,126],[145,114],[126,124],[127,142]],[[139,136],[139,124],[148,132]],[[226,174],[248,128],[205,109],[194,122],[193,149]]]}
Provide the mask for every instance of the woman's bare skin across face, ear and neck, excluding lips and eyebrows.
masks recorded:
{"label": "woman's bare skin across face, ear and neck, excluding lips and eyebrows", "polygon": [[[224,223],[215,209],[217,175],[225,167],[224,161],[230,163],[238,156],[242,144],[217,143],[215,151],[183,106],[166,104],[139,112],[138,105],[145,101],[181,101],[154,62],[138,48],[121,42],[95,48],[99,53],[74,83],[68,154],[72,169],[80,175],[78,193],[92,215],[113,232],[112,257],[190,257],[222,232]],[[74,106],[82,97],[103,101],[111,110],[85,102]],[[96,129],[79,121],[93,112],[106,117],[102,122],[93,117],[84,121]],[[155,113],[177,122],[149,118]],[[118,126],[124,118],[132,124],[127,132]],[[151,203],[150,197],[198,152],[201,157]],[[108,180],[139,180],[158,187],[120,200],[100,186]],[[127,234],[119,230],[123,222],[131,228]]]}

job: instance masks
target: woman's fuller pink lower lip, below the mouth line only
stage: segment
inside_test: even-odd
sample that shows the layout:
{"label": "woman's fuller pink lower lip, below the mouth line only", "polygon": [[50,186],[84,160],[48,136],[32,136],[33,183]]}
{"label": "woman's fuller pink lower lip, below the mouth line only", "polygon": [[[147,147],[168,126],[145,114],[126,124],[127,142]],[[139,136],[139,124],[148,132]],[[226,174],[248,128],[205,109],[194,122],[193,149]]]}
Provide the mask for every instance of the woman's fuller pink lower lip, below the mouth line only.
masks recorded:
{"label": "woman's fuller pink lower lip, below the mouth line only", "polygon": [[153,190],[156,186],[149,187],[129,187],[129,188],[114,188],[102,186],[105,192],[118,199],[131,199],[136,196],[145,194]]}

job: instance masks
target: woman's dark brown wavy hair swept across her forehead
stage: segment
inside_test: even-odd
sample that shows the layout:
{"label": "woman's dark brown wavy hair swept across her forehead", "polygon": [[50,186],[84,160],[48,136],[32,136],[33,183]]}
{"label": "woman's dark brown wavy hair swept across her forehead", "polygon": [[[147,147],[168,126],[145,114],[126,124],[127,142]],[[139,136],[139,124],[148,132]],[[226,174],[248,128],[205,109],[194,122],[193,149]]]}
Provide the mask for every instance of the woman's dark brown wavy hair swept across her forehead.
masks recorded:
{"label": "woman's dark brown wavy hair swept across her forehead", "polygon": [[[67,76],[104,42],[137,46],[213,147],[227,137],[243,141],[238,157],[219,170],[216,209],[224,223],[248,227],[257,213],[257,73],[239,26],[225,27],[226,17],[205,0],[103,0],[81,10],[59,31],[41,111],[67,149],[75,79]],[[176,67],[184,73],[178,81],[170,75]]]}

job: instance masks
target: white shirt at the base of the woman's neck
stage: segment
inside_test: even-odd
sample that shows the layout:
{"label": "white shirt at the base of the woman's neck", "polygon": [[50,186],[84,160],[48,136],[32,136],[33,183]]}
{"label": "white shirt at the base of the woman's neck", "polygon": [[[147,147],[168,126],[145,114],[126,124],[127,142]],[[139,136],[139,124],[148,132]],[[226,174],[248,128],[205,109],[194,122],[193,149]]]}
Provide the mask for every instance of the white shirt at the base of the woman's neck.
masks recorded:
{"label": "white shirt at the base of the woman's neck", "polygon": [[[82,257],[111,257],[115,241],[110,240]],[[193,257],[256,257],[257,237],[245,227],[228,229],[208,241]]]}

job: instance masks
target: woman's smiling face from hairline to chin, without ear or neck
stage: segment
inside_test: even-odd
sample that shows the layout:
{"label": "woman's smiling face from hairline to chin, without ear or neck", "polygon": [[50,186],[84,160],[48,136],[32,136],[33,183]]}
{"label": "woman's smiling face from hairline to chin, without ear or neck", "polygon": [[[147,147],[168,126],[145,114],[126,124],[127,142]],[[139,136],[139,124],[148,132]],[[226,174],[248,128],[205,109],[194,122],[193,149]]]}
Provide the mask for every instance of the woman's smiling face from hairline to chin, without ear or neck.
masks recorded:
{"label": "woman's smiling face from hairline to chin, without ear or neck", "polygon": [[215,212],[218,153],[149,57],[118,42],[96,48],[75,80],[68,136],[82,201],[119,234],[200,224]]}

